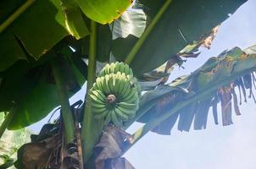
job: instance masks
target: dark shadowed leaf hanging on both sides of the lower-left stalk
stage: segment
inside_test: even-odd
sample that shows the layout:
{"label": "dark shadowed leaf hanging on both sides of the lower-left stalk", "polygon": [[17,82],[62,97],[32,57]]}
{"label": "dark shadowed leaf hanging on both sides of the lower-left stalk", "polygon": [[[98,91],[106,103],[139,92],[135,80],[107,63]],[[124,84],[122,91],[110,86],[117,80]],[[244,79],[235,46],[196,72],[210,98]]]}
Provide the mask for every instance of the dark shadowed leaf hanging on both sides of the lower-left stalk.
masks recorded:
{"label": "dark shadowed leaf hanging on both sides of the lower-left stalk", "polygon": [[[65,74],[65,84],[70,95],[81,89],[85,78],[77,70],[75,63],[68,57],[60,57],[62,72]],[[0,86],[0,110],[6,111],[17,105],[9,129],[19,129],[36,123],[46,117],[54,107],[58,106],[58,93],[53,79],[52,69],[49,63],[44,63],[35,68],[22,68],[23,64],[15,63],[7,71],[3,72],[3,84]],[[76,72],[75,72],[75,70]],[[79,83],[79,85],[78,85]]]}

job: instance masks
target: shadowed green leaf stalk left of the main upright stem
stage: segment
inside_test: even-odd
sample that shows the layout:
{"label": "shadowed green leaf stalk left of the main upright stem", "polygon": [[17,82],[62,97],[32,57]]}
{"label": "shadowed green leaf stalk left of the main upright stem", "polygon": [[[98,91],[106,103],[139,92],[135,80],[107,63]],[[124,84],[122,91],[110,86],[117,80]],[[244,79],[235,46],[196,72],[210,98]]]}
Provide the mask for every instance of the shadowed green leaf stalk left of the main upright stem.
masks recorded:
{"label": "shadowed green leaf stalk left of the main upright stem", "polygon": [[64,84],[64,74],[61,74],[61,68],[58,63],[58,57],[52,60],[53,76],[57,85],[59,103],[61,106],[62,117],[64,120],[64,131],[67,143],[72,143],[75,139],[75,123],[70,109],[68,92]]}

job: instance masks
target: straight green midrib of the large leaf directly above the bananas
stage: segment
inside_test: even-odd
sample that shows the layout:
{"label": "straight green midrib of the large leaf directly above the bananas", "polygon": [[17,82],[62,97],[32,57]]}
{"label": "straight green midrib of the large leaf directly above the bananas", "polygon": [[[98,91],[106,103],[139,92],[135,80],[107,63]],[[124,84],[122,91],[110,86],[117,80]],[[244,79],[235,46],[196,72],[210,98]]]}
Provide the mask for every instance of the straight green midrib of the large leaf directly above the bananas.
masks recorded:
{"label": "straight green midrib of the large leaf directly above the bananas", "polygon": [[133,58],[136,56],[136,53],[140,50],[144,41],[146,41],[147,36],[153,30],[154,26],[157,25],[159,19],[164,14],[165,10],[169,7],[171,2],[172,0],[166,0],[163,7],[159,9],[159,12],[154,16],[153,20],[148,25],[147,29],[144,31],[140,39],[136,42],[135,46],[133,46],[133,48],[131,49],[131,52],[128,54],[128,56],[125,59],[125,63],[131,64]]}

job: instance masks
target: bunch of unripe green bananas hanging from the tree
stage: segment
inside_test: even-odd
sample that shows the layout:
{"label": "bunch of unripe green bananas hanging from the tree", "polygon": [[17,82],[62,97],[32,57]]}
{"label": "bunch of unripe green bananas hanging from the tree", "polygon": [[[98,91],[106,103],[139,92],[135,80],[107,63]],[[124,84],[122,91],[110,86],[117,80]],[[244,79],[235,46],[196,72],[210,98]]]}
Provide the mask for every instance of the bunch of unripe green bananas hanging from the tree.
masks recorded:
{"label": "bunch of unripe green bananas hanging from the tree", "polygon": [[94,117],[115,126],[134,117],[140,95],[135,80],[128,65],[107,64],[89,91]]}

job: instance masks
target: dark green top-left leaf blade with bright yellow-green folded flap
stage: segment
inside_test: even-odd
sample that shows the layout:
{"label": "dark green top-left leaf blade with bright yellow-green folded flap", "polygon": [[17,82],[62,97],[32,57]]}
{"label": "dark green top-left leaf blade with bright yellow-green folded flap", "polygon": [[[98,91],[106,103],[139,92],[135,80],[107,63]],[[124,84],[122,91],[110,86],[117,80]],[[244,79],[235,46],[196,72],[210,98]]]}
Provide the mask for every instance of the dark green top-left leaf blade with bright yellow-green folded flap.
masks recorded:
{"label": "dark green top-left leaf blade with bright yellow-green folded flap", "polygon": [[[25,1],[2,1],[0,7],[9,9],[1,10],[0,23],[23,3]],[[14,19],[0,35],[0,41],[4,41],[0,47],[0,71],[18,60],[28,60],[27,55],[38,60],[66,35],[76,38],[88,35],[80,8],[75,3],[65,7],[60,0],[38,0]]]}

